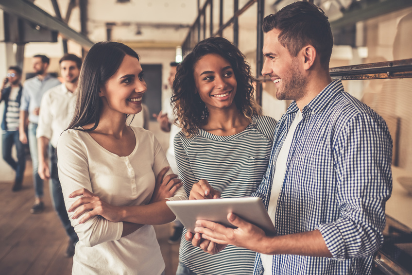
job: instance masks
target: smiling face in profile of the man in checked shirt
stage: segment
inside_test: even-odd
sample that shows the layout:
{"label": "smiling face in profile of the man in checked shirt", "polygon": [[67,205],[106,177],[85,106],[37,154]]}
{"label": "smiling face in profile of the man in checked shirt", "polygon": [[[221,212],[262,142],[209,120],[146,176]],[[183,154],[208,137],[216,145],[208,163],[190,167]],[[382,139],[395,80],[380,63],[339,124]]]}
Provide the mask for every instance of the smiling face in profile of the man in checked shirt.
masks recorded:
{"label": "smiling face in profile of the man in checked shirt", "polygon": [[279,34],[280,31],[276,29],[265,34],[262,75],[270,76],[275,83],[278,100],[298,101],[306,94],[307,81],[300,69],[298,57],[293,57],[277,40]]}

